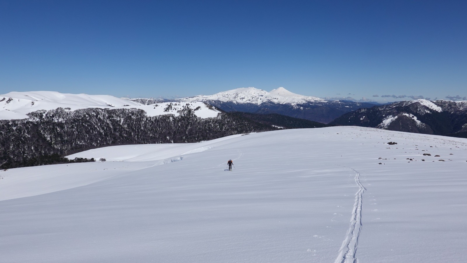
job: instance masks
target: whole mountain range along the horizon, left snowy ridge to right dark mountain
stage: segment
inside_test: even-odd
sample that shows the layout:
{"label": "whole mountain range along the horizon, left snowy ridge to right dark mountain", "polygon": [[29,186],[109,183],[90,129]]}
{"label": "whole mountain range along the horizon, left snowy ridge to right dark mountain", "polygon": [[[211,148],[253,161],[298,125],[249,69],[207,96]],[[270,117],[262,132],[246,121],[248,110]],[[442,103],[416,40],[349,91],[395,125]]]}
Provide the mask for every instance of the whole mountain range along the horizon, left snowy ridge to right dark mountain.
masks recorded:
{"label": "whole mountain range along the horizon, left snowy ridge to right dark mountain", "polygon": [[[205,104],[217,107],[209,109]],[[323,100],[303,96],[277,88],[270,92],[256,88],[239,88],[213,95],[199,95],[181,99],[128,99],[108,95],[63,94],[59,92],[10,92],[0,95],[0,120],[27,119],[37,110],[63,108],[77,109],[141,109],[148,117],[173,114],[177,116],[184,105],[198,108],[194,115],[202,118],[216,117],[220,111],[269,114],[264,117],[237,114],[269,126],[286,127],[280,123],[282,114],[289,117],[329,123],[383,128],[396,131],[467,137],[467,101],[412,100],[388,105],[361,103],[347,100]],[[290,122],[291,123],[291,122]],[[300,124],[301,125],[301,124]],[[294,126],[294,128],[300,127]],[[306,124],[320,127],[319,124]]]}

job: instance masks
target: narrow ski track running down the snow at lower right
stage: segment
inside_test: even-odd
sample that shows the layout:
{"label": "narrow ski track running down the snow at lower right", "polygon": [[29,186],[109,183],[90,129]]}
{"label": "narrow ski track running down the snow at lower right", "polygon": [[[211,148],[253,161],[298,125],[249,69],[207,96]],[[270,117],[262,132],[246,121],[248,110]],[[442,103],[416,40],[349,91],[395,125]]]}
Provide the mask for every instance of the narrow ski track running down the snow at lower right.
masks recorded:
{"label": "narrow ski track running down the snow at lower right", "polygon": [[[343,165],[340,165],[343,166]],[[347,166],[343,166],[347,167]],[[346,238],[342,242],[342,246],[339,250],[339,256],[337,256],[334,263],[357,263],[356,257],[358,247],[358,237],[361,232],[361,206],[363,202],[363,192],[367,189],[360,183],[360,173],[354,169],[347,167],[348,169],[355,172],[355,183],[359,190],[355,193],[355,203],[352,210],[352,217],[350,219],[350,226],[347,231]]]}

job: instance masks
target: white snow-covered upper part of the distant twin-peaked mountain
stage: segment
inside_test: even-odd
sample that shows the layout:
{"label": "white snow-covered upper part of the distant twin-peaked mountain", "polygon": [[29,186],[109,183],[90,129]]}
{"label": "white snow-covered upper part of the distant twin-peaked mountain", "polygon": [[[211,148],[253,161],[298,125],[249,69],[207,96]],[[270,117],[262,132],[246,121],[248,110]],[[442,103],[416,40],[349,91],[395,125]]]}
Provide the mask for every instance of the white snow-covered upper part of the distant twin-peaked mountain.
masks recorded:
{"label": "white snow-covered upper part of the distant twin-peaked mountain", "polygon": [[222,102],[234,102],[234,103],[249,103],[260,105],[264,102],[272,102],[276,104],[303,104],[307,101],[325,101],[323,99],[311,96],[303,96],[289,92],[283,87],[267,92],[264,90],[256,89],[254,87],[249,88],[238,88],[225,92],[219,92],[214,95],[199,95],[195,97],[189,97],[180,99],[182,101],[209,101],[218,100]]}

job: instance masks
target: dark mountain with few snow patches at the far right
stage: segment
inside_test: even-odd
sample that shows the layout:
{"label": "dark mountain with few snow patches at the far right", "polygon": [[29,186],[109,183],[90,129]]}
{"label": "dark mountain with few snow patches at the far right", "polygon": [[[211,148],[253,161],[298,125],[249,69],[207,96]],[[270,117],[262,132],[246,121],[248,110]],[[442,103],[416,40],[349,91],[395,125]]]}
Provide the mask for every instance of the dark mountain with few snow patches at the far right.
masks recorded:
{"label": "dark mountain with few snow patches at the far right", "polygon": [[467,101],[400,101],[358,109],[332,124],[467,137]]}

